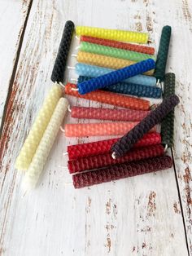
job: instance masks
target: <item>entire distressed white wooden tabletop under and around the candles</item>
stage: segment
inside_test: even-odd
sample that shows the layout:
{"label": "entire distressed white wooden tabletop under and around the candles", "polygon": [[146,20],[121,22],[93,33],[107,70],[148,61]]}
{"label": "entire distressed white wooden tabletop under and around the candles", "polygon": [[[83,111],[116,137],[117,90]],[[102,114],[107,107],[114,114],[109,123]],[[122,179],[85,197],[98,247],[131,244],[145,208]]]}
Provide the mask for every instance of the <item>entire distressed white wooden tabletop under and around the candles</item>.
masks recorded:
{"label": "entire distressed white wooden tabletop under and around the candles", "polygon": [[[15,157],[52,86],[66,20],[148,31],[156,49],[162,27],[172,26],[167,71],[176,73],[181,99],[174,168],[75,190],[63,152],[88,139],[59,134],[37,189],[23,196]],[[191,46],[190,0],[0,0],[0,255],[192,254]]]}

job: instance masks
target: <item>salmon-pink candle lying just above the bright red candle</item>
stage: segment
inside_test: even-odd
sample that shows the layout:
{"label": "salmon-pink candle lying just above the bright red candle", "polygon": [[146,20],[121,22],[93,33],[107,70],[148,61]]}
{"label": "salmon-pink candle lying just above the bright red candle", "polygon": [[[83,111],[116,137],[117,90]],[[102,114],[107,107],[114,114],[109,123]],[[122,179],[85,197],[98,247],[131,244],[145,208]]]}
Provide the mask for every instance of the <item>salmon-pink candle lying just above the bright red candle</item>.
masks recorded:
{"label": "salmon-pink candle lying just above the bright red candle", "polygon": [[137,121],[103,122],[65,125],[66,137],[123,135],[137,125]]}

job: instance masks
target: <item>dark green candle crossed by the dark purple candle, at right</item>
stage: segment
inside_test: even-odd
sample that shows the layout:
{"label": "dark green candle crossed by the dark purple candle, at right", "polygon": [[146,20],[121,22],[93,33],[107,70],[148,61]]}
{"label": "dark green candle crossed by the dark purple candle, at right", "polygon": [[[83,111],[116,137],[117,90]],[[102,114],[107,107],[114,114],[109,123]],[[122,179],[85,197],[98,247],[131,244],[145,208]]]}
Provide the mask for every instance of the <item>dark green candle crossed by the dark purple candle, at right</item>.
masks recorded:
{"label": "dark green candle crossed by the dark purple candle, at right", "polygon": [[[175,94],[175,81],[174,73],[167,73],[164,77],[164,99]],[[162,143],[167,145],[168,148],[173,146],[174,135],[174,109],[168,113],[161,123],[161,136]]]}

